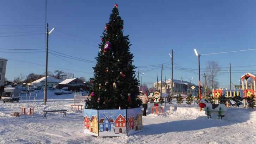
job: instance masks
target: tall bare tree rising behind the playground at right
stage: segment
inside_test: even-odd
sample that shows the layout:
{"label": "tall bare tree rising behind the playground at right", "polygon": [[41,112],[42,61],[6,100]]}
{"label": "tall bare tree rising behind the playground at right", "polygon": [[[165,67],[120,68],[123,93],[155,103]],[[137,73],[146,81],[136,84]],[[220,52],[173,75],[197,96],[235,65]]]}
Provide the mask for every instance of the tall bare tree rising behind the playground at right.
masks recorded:
{"label": "tall bare tree rising behind the playground at right", "polygon": [[216,61],[207,61],[206,63],[206,77],[207,77],[207,84],[211,88],[219,88],[219,82],[217,81],[217,76],[220,72],[221,68],[219,62]]}

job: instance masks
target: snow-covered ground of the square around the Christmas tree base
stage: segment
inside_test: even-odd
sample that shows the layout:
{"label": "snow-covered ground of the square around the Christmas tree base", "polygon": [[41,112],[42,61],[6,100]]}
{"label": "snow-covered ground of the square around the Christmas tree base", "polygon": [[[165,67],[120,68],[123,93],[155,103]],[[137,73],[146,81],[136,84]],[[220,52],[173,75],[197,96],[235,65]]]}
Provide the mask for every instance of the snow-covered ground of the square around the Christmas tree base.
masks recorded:
{"label": "snow-covered ground of the square around the Christmas tree base", "polygon": [[[228,110],[221,120],[217,115],[207,119],[199,108],[165,106],[163,114],[151,114],[148,108],[143,119],[143,132],[122,137],[95,137],[83,133],[83,111],[71,111],[74,95],[54,95],[48,91],[47,105],[43,105],[43,91],[37,90],[34,115],[12,116],[21,107],[32,106],[23,97],[20,102],[0,102],[1,144],[255,144],[256,111]],[[82,103],[81,103],[82,104]],[[43,109],[67,109],[62,113],[47,114]],[[27,110],[28,111],[28,110]]]}

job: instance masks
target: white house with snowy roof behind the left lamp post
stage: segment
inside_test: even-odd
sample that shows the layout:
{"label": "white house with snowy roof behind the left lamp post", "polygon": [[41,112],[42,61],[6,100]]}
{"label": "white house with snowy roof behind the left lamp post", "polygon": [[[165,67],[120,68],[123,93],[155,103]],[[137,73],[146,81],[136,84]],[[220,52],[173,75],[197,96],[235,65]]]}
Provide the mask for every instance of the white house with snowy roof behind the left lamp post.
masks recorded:
{"label": "white house with snowy roof behind the left lamp post", "polygon": [[[58,80],[51,76],[47,76],[47,86],[55,86],[62,81],[63,80]],[[45,85],[45,76],[42,77],[41,79],[38,79],[38,80],[32,82],[32,86],[44,86],[44,85]]]}

